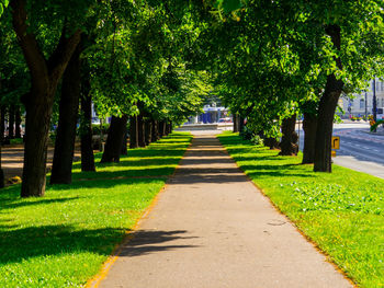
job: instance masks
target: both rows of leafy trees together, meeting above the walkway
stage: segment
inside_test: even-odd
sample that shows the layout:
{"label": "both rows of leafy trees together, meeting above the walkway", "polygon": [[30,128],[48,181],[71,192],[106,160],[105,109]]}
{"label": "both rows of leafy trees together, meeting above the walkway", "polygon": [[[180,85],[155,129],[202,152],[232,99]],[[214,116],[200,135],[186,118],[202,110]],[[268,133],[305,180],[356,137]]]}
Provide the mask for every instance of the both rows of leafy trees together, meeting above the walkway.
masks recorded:
{"label": "both rows of leafy trees together, meeting above the walkway", "polygon": [[18,95],[26,113],[22,196],[44,194],[53,122],[52,183],[69,183],[78,118],[83,169],[94,169],[92,102],[113,116],[109,162],[127,123],[131,147],[145,146],[210,92],[271,147],[282,126],[283,154],[303,114],[303,162],[330,172],[340,95],[384,74],[382,0],[1,0],[0,13],[1,97]]}

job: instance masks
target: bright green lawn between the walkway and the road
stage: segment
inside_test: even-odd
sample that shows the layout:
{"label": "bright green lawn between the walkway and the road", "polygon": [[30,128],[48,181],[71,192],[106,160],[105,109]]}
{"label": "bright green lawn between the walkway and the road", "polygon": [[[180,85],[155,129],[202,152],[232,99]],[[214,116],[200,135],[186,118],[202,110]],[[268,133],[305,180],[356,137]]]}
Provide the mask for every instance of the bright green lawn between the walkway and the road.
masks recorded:
{"label": "bright green lawn between the walkway and the road", "polygon": [[334,165],[314,173],[236,134],[218,136],[264,194],[361,287],[384,287],[384,180]]}

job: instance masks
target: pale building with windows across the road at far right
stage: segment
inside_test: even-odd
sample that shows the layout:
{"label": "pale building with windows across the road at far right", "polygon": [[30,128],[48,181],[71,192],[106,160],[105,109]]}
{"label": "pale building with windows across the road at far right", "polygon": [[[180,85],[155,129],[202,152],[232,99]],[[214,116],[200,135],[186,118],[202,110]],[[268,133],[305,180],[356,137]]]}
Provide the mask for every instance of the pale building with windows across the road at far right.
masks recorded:
{"label": "pale building with windows across the road at far right", "polygon": [[[377,108],[384,107],[384,81],[376,79],[376,105]],[[365,105],[366,114],[372,114],[373,108],[373,80],[370,84],[370,90],[368,92],[362,92],[361,94],[354,94],[353,99],[340,97],[339,105],[345,111],[345,115],[340,115],[342,118],[349,118],[352,116],[364,116]],[[366,102],[366,103],[365,103]]]}

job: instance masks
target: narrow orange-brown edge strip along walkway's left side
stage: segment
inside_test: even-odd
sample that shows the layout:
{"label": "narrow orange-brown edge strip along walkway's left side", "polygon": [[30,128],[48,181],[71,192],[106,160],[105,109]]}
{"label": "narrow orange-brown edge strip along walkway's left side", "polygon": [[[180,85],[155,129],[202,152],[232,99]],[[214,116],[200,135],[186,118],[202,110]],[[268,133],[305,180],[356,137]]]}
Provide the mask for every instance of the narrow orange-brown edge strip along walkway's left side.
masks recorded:
{"label": "narrow orange-brown edge strip along walkway's left side", "polygon": [[[194,136],[192,135],[191,138],[191,142],[189,143],[189,146],[187,147],[184,154],[187,153],[187,151],[191,148],[192,146],[192,140],[193,140]],[[124,247],[124,245],[128,244],[129,241],[132,239],[134,239],[135,237],[135,232],[139,229],[142,222],[148,217],[148,215],[150,214],[150,211],[156,207],[161,194],[163,193],[163,191],[169,186],[169,182],[171,178],[174,177],[174,174],[177,173],[177,171],[180,168],[180,163],[184,158],[184,154],[182,155],[182,158],[180,159],[178,165],[174,168],[174,171],[171,175],[168,176],[165,185],[160,188],[160,191],[157,193],[157,195],[154,197],[154,199],[151,200],[151,203],[149,204],[149,206],[143,211],[142,216],[139,218],[137,218],[137,220],[135,221],[135,224],[132,227],[131,230],[125,231],[125,235],[124,239],[117,243],[115,245],[115,247],[113,249],[112,253],[110,254],[110,256],[108,257],[108,260],[102,264],[101,268],[99,269],[99,273],[97,275],[94,275],[92,278],[88,279],[86,285],[83,286],[84,288],[98,288],[100,283],[108,276],[108,273],[110,272],[112,265],[117,261],[117,258],[120,257],[120,254]]]}

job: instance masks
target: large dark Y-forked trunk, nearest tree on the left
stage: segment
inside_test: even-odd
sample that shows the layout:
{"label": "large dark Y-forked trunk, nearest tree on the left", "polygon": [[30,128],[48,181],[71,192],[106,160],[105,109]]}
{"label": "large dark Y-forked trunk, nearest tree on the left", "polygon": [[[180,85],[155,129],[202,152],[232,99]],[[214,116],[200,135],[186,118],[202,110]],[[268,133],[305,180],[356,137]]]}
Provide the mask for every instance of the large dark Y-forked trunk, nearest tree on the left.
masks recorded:
{"label": "large dark Y-forked trunk, nearest tree on the left", "polygon": [[65,24],[59,43],[47,60],[38,47],[35,35],[29,31],[26,0],[11,0],[10,5],[13,28],[31,73],[31,91],[24,97],[26,137],[21,196],[43,196],[54,96],[57,84],[80,42],[81,32],[77,30],[67,38]]}

